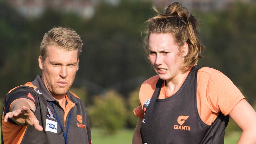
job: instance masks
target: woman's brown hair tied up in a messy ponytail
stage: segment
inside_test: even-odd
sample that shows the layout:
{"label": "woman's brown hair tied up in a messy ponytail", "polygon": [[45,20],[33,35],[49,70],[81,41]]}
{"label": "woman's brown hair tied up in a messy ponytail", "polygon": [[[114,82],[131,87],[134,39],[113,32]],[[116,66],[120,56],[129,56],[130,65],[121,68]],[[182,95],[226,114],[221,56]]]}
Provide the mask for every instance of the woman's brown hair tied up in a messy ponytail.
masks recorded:
{"label": "woman's brown hair tied up in a messy ponytail", "polygon": [[[150,34],[173,35],[176,45],[180,48],[187,42],[188,54],[185,57],[184,64],[180,68],[185,72],[202,58],[201,53],[205,47],[200,43],[198,20],[179,2],[169,4],[163,12],[159,12],[156,7],[153,9],[157,15],[146,21],[148,24],[146,36],[143,39],[143,48],[148,56],[148,38]],[[180,52],[182,52],[180,50]]]}

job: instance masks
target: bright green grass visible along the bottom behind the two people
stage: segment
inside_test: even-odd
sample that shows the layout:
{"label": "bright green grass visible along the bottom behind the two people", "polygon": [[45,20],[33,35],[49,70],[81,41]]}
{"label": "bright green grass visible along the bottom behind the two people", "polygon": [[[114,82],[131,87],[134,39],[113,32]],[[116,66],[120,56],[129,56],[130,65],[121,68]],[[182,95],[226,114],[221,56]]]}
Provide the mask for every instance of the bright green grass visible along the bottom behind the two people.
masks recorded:
{"label": "bright green grass visible along the bottom behind the two people", "polygon": [[[100,129],[91,129],[92,143],[93,144],[131,144],[132,135],[134,129],[124,129],[118,131],[117,134],[113,136],[107,136]],[[236,144],[241,132],[233,132],[232,134],[225,135],[224,144]]]}

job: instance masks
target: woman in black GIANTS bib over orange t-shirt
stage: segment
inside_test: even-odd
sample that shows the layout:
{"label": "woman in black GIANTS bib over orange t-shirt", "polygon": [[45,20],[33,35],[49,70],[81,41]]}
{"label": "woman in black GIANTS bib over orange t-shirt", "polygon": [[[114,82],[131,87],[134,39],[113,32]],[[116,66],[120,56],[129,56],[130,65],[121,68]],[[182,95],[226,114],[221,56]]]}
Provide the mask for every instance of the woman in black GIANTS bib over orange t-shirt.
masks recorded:
{"label": "woman in black GIANTS bib over orange t-shirt", "polygon": [[223,73],[197,65],[197,19],[179,2],[153,8],[144,48],[157,75],[141,85],[132,143],[224,143],[229,116],[242,130],[238,143],[256,143],[255,110]]}

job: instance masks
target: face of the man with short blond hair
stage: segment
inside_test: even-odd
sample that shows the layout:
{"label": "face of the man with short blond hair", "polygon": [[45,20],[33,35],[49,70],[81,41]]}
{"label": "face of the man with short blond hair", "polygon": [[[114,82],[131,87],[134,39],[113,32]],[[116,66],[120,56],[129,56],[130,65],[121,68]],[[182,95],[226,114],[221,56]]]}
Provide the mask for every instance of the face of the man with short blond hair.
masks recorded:
{"label": "face of the man with short blond hair", "polygon": [[42,69],[42,82],[56,98],[65,96],[75,79],[79,59],[77,50],[61,50],[56,46],[48,46],[45,61],[39,56],[39,67]]}

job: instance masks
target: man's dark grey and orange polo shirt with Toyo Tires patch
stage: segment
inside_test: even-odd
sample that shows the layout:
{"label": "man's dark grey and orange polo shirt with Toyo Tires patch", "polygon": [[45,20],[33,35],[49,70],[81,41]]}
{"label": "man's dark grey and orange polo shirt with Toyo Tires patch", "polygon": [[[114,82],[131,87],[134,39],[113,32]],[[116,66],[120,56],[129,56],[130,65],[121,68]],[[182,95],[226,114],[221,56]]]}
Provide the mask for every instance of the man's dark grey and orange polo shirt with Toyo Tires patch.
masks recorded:
{"label": "man's dark grey and orange polo shirt with Toyo Tires patch", "polygon": [[[35,115],[43,127],[42,132],[36,130],[34,126],[18,126],[10,118],[8,122],[4,122],[4,115],[10,111],[11,103],[21,98],[34,102]],[[12,89],[4,99],[2,143],[65,143],[64,132],[64,134],[67,133],[68,143],[91,144],[91,130],[86,107],[78,96],[69,91],[66,99],[67,105],[63,110],[59,102],[50,95],[39,75],[33,82]],[[57,117],[59,117],[62,129]]]}

